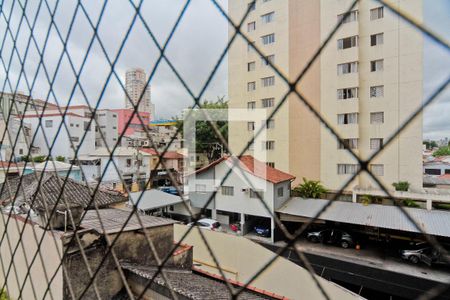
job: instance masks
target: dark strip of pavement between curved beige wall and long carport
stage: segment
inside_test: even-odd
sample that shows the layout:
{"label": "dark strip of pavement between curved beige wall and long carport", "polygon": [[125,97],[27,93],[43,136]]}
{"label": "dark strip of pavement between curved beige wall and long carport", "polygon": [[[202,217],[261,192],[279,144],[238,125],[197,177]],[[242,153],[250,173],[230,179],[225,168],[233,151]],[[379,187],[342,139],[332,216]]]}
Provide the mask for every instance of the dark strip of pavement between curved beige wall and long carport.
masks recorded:
{"label": "dark strip of pavement between curved beige wall and long carport", "polygon": [[[262,245],[272,251],[278,249],[276,245]],[[370,267],[367,264],[360,264],[356,260],[350,262],[320,254],[305,253],[305,255],[318,275],[353,292],[360,293],[367,299],[416,299],[440,284],[434,280],[426,279],[426,272],[423,273],[425,276],[416,277],[410,274]],[[302,265],[293,250],[286,251],[283,256],[298,265]],[[450,299],[450,289],[447,288],[440,297],[432,299]]]}

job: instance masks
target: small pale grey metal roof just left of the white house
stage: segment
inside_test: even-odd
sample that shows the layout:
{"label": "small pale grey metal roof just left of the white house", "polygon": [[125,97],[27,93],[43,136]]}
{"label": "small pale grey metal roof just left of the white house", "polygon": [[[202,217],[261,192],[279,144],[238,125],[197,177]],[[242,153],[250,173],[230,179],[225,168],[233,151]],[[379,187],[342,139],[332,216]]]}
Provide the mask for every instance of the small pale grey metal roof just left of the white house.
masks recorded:
{"label": "small pale grey metal roof just left of the white house", "polygon": [[156,209],[183,202],[180,196],[175,196],[159,190],[146,190],[143,192],[130,193],[130,201],[133,204],[136,204],[141,194],[143,195],[138,204],[138,209],[141,210]]}

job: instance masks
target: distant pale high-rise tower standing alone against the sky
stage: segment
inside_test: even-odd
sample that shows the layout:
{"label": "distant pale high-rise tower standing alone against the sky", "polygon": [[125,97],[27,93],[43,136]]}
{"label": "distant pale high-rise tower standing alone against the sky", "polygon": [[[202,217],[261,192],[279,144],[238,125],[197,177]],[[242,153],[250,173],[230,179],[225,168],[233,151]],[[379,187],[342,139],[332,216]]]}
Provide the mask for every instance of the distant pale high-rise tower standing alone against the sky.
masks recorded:
{"label": "distant pale high-rise tower standing alone against the sky", "polygon": [[[142,96],[142,100],[139,103],[138,111],[139,112],[148,112],[151,115],[151,118],[154,118],[155,106],[152,104],[150,99],[150,84],[145,87],[147,83],[147,75],[145,71],[140,68],[130,69],[126,73],[125,78],[125,88],[128,96],[131,99],[131,102],[136,105],[138,103],[139,98]],[[142,95],[145,88],[144,95]],[[127,95],[125,95],[125,108],[131,109],[133,108],[132,103],[127,99]]]}

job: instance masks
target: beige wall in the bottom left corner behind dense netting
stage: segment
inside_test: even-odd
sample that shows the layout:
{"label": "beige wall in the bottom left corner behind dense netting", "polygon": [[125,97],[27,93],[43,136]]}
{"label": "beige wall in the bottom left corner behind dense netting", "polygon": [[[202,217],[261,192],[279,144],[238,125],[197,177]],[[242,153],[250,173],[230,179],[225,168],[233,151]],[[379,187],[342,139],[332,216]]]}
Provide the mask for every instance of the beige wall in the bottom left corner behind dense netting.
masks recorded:
{"label": "beige wall in the bottom left corner behind dense netting", "polygon": [[[3,236],[5,232],[5,222],[7,215],[1,214],[0,218],[0,235]],[[21,242],[19,242],[19,234],[25,226]],[[0,272],[0,283],[5,282],[5,272],[8,269],[11,260],[14,265],[11,267],[10,274],[7,278],[6,289],[11,299],[19,298],[20,286],[25,281],[25,276],[31,264],[32,258],[36,253],[38,242],[36,242],[34,232],[38,241],[43,237],[43,242],[40,248],[40,255],[38,255],[31,266],[30,275],[25,283],[22,299],[43,299],[45,290],[48,286],[47,278],[51,278],[55,274],[59,265],[58,253],[62,255],[62,243],[59,236],[56,234],[56,244],[53,240],[52,234],[49,231],[44,231],[37,225],[24,223],[22,220],[11,218],[6,229],[6,236],[0,246],[1,267],[4,272]],[[19,244],[18,244],[19,243]],[[16,245],[19,245],[15,256],[12,258],[12,251]],[[10,247],[12,251],[10,250]],[[33,293],[32,286],[36,294]],[[53,299],[63,298],[63,272],[60,268],[56,272],[56,276],[51,283],[50,292]],[[51,299],[47,293],[45,299]]]}

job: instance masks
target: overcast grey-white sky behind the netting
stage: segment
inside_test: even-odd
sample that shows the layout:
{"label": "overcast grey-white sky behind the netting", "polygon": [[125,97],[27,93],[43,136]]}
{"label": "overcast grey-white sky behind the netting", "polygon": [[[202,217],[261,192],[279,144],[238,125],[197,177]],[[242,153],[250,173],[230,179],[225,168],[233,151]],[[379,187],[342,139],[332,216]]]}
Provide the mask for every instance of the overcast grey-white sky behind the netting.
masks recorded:
{"label": "overcast grey-white sky behind the netting", "polygon": [[[25,2],[25,1],[22,1]],[[106,89],[103,90],[107,77],[111,71],[110,63],[104,51],[111,61],[116,59],[120,45],[130,28],[134,16],[134,8],[128,1],[111,0],[104,8],[102,19],[98,29],[98,35],[102,41],[100,44],[95,40],[90,46],[93,30],[83,9],[78,7],[76,17],[73,18],[77,1],[64,0],[59,2],[56,9],[54,23],[58,30],[50,25],[49,10],[55,8],[55,1],[50,0],[49,6],[42,5],[38,11],[39,1],[28,1],[26,7],[27,19],[23,19],[20,34],[17,36],[17,49],[21,58],[25,56],[24,73],[21,74],[21,62],[14,54],[10,62],[12,51],[12,39],[7,36],[3,43],[0,62],[0,83],[5,82],[5,68],[9,66],[8,78],[10,83],[2,86],[5,90],[18,90],[28,93],[33,85],[32,95],[37,98],[46,99],[49,91],[49,79],[55,77],[55,70],[60,61],[58,71],[53,83],[53,90],[59,104],[65,105],[73,94],[72,104],[85,104],[86,100],[79,87],[73,89],[76,76],[73,69],[78,73],[85,59],[86,51],[91,47],[89,55],[84,62],[79,80],[83,92],[91,105],[95,105],[101,99],[100,107],[117,108],[124,106],[124,93],[119,81],[113,75]],[[63,2],[63,5],[62,5]],[[428,1],[424,1],[429,3]],[[425,23],[433,31],[450,40],[450,2],[448,0],[433,0],[433,5],[425,6]],[[3,10],[9,16],[12,1],[5,1]],[[44,2],[45,3],[45,2]],[[102,10],[102,1],[83,1],[84,9],[89,15],[91,22],[96,24]],[[184,6],[184,0],[146,0],[142,6],[142,17],[147,26],[152,30],[154,38],[162,46],[170,33],[180,11]],[[219,3],[226,9],[227,0]],[[22,9],[16,2],[13,9],[13,17],[9,23],[12,34],[15,35],[20,24]],[[37,16],[37,18],[36,18]],[[36,19],[36,21],[35,21]],[[30,46],[30,30],[28,24],[35,24]],[[72,24],[72,26],[70,26]],[[148,74],[153,73],[151,80],[152,101],[156,105],[157,117],[168,118],[180,114],[180,111],[192,103],[192,98],[186,88],[177,79],[174,72],[169,68],[166,61],[162,60],[155,69],[158,58],[158,48],[149,35],[146,26],[139,18],[134,23],[128,38],[115,62],[114,70],[120,80],[124,80],[126,69],[131,67],[144,68]],[[7,28],[4,18],[0,19],[0,31],[2,36]],[[70,28],[72,28],[70,30]],[[66,40],[68,32],[70,35],[66,44],[68,55],[63,55],[63,43],[59,35]],[[183,78],[191,92],[197,96],[204,86],[213,66],[216,65],[221,52],[226,46],[228,33],[226,20],[210,0],[192,0],[185,15],[176,30],[166,55],[172,62],[173,67]],[[47,36],[47,33],[48,36]],[[47,43],[45,41],[47,40]],[[40,55],[44,49],[43,60],[45,69],[38,68]],[[102,49],[104,48],[104,50]],[[37,50],[39,49],[39,51]],[[70,57],[70,59],[68,58]],[[450,73],[450,52],[427,41],[424,55],[424,97],[429,95]],[[37,72],[39,70],[39,72]],[[49,78],[48,78],[48,77]],[[34,80],[35,79],[35,80]],[[27,82],[28,81],[28,82]],[[218,96],[227,94],[227,61],[226,57],[219,65],[215,76],[203,94],[203,99],[216,99]],[[49,96],[55,101],[54,95]],[[449,91],[441,96],[438,101],[428,108],[424,117],[424,136],[426,138],[450,137],[450,95]]]}

